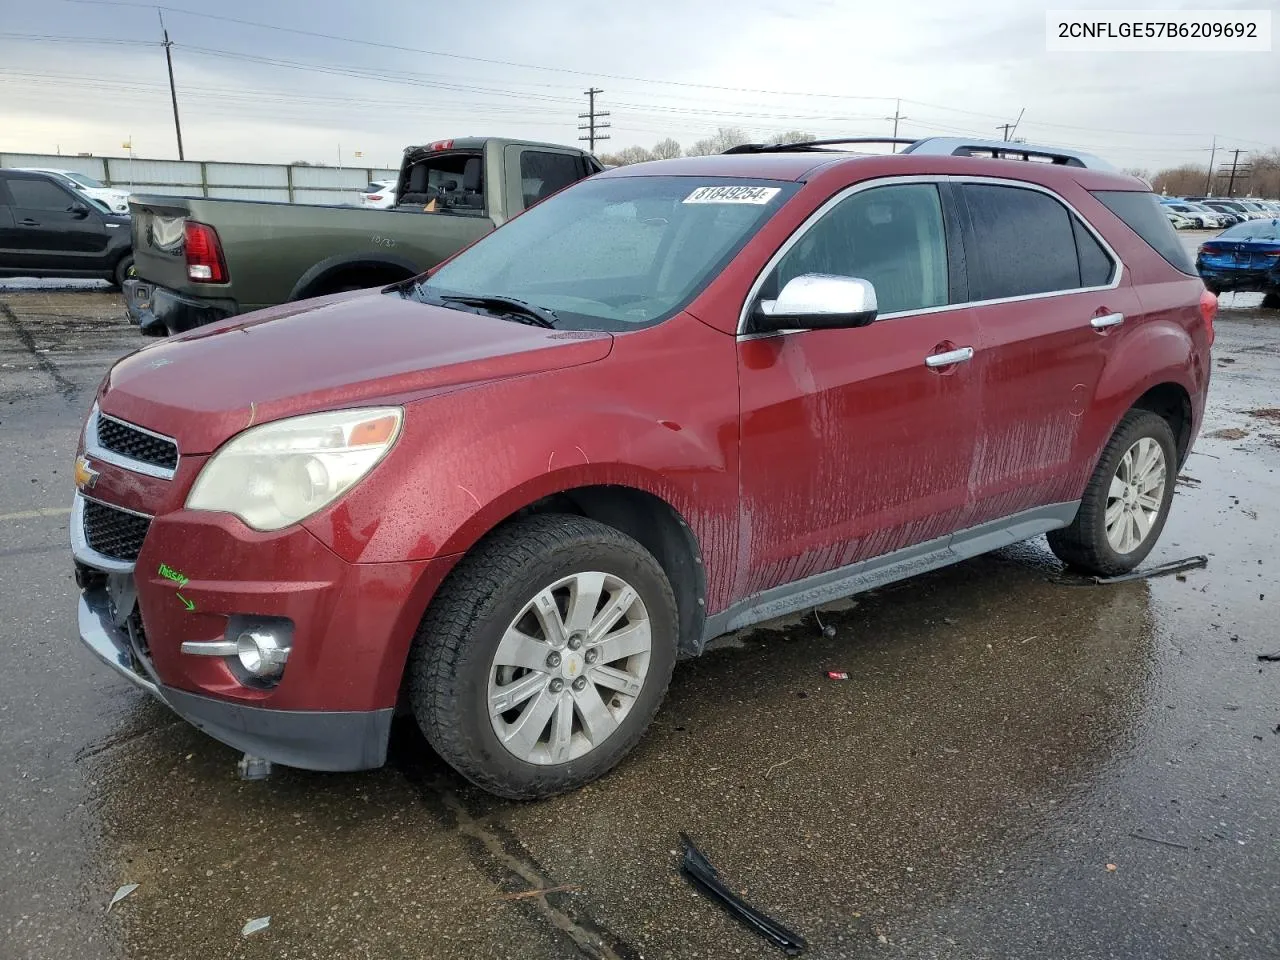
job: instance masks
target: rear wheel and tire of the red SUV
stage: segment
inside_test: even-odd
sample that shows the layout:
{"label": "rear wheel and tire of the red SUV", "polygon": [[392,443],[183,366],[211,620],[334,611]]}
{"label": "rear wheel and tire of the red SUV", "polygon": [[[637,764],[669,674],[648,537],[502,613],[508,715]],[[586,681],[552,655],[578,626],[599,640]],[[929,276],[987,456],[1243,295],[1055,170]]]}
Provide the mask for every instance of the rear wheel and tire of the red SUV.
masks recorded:
{"label": "rear wheel and tire of the red SUV", "polygon": [[[1124,492],[1121,498],[1112,497],[1112,481],[1124,484],[1119,474],[1123,465],[1130,466],[1132,461],[1126,462],[1130,453],[1137,453],[1139,457],[1137,466],[1140,468],[1140,457],[1149,456],[1152,449],[1158,449],[1162,457],[1162,463],[1156,465],[1155,468],[1162,468],[1164,476],[1162,486],[1158,488],[1158,509],[1147,512],[1143,509],[1143,502],[1133,497],[1133,489]],[[1155,471],[1148,475],[1148,480],[1152,477],[1155,477]],[[1178,448],[1169,422],[1148,410],[1130,410],[1120,420],[1120,425],[1111,435],[1106,449],[1102,451],[1102,457],[1084,490],[1075,520],[1070,526],[1048,534],[1050,549],[1069,567],[1085,573],[1096,576],[1128,573],[1147,558],[1151,548],[1160,539],[1160,532],[1165,529],[1165,521],[1169,518],[1169,506],[1174,499],[1176,477]],[[1137,480],[1142,481],[1140,474]],[[1139,483],[1138,489],[1144,486],[1146,484]],[[1147,502],[1155,500],[1156,488],[1146,489],[1149,498]],[[1130,503],[1133,511],[1129,509]],[[1147,531],[1135,545],[1129,545],[1133,540],[1125,539],[1123,526],[1114,527],[1111,534],[1107,531],[1108,506],[1115,509],[1117,504],[1121,507],[1117,524],[1126,522],[1126,513],[1134,517],[1134,520],[1128,521],[1129,535],[1140,531],[1142,522],[1146,521]],[[1114,536],[1115,539],[1112,539]],[[1126,547],[1128,549],[1125,549]]]}

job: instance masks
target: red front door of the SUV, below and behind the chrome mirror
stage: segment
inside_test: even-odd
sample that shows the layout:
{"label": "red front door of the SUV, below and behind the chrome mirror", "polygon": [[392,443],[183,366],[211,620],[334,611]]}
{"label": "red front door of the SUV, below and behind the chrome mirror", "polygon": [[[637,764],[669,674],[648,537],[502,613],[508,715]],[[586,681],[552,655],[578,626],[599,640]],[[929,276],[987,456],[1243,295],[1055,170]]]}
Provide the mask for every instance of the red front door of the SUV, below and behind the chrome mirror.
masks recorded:
{"label": "red front door of the SUV, below and behind the chrome mirror", "polygon": [[[978,328],[954,275],[940,184],[855,187],[783,247],[759,298],[788,279],[869,280],[855,329],[739,337],[741,527],[736,599],[945,538],[972,512]],[[956,306],[952,306],[956,305]]]}

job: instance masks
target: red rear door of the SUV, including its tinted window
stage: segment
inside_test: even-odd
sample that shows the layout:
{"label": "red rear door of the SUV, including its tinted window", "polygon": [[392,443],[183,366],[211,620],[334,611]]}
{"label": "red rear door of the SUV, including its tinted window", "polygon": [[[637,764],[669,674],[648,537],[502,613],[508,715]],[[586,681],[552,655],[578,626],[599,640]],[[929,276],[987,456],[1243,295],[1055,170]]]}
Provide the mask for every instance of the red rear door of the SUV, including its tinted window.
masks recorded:
{"label": "red rear door of the SUV, including its tinted window", "polygon": [[1140,306],[1119,257],[1057,195],[980,178],[952,189],[982,332],[980,524],[1079,497],[1093,467],[1084,413]]}

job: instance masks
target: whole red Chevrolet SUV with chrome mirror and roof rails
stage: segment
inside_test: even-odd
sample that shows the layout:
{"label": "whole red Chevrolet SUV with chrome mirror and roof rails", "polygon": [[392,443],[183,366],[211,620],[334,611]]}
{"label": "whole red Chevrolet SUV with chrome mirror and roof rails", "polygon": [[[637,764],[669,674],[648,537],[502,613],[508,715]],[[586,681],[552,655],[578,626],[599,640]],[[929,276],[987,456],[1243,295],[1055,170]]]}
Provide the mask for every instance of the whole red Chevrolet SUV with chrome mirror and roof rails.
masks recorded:
{"label": "whole red Chevrolet SUV with chrome mirror and roof rails", "polygon": [[582,785],[714,636],[1048,535],[1119,573],[1199,430],[1216,301],[1149,189],[927,140],[641,164],[389,288],[119,361],[79,631],[251,755]]}

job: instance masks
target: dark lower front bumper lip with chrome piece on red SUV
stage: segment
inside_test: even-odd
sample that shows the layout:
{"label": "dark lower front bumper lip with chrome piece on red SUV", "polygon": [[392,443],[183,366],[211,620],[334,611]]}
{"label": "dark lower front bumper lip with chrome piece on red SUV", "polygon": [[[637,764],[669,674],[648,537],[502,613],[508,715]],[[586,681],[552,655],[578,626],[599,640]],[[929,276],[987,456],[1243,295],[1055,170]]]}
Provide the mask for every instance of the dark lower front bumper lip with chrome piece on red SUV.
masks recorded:
{"label": "dark lower front bumper lip with chrome piece on red SUV", "polygon": [[106,588],[79,598],[81,641],[122,677],[157,696],[174,713],[228,746],[285,767],[362,771],[387,760],[394,709],[273,710],[165,686],[138,636],[120,623]]}

